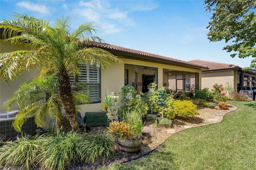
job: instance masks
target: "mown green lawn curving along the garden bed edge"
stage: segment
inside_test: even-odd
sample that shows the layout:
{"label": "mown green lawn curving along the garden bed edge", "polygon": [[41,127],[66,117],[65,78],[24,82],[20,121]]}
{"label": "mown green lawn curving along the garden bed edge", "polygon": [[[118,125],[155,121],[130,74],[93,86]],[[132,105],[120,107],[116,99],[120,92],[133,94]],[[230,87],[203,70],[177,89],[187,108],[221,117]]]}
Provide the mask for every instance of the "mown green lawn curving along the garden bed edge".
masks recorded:
{"label": "mown green lawn curving along the garden bed edge", "polygon": [[228,102],[238,107],[223,122],[174,134],[146,157],[114,164],[113,170],[254,170],[256,102]]}

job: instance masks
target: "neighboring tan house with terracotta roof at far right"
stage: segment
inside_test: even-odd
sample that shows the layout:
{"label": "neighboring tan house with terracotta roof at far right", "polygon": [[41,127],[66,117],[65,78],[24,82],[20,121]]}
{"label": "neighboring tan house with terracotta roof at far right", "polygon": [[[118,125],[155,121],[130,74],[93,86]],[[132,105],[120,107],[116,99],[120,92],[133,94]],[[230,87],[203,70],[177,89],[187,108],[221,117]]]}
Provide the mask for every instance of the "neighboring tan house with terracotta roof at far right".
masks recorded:
{"label": "neighboring tan house with terracotta roof at far right", "polygon": [[215,83],[222,84],[223,87],[231,86],[234,91],[244,91],[250,94],[250,99],[255,100],[256,93],[256,70],[242,70],[238,65],[217,63],[212,61],[191,60],[191,63],[205,65],[208,70],[202,71],[201,89],[209,88]]}

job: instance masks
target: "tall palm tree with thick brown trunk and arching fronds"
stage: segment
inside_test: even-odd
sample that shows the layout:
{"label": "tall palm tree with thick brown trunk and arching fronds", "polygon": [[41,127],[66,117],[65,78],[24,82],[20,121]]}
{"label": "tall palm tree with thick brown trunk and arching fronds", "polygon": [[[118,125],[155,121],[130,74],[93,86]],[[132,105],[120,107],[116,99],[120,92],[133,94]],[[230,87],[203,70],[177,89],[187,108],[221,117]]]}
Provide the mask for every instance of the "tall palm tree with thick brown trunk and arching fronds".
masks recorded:
{"label": "tall palm tree with thick brown trunk and arching fronds", "polygon": [[69,75],[80,74],[80,63],[90,63],[105,70],[110,61],[122,61],[108,51],[89,47],[92,41],[102,41],[92,36],[96,30],[91,22],[80,25],[70,34],[69,17],[56,19],[53,27],[49,26],[49,21],[28,15],[15,13],[14,17],[18,19],[2,22],[3,37],[13,44],[26,43],[31,50],[0,54],[0,78],[13,81],[22,71],[34,67],[57,72],[58,95],[66,117],[72,129],[79,130]]}

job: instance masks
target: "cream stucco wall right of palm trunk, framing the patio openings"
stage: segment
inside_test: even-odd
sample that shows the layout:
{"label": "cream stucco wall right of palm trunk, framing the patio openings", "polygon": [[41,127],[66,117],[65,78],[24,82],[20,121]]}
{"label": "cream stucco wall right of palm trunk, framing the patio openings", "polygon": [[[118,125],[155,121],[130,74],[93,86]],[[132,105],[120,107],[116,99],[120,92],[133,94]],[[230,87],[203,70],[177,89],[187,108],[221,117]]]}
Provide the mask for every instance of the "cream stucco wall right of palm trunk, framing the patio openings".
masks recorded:
{"label": "cream stucco wall right of palm trunk, framing the patio openings", "polygon": [[[152,62],[146,62],[146,61],[138,61],[138,60],[132,60],[132,59],[124,59],[122,58],[124,63],[117,64],[112,63],[111,66],[108,67],[108,70],[105,72],[102,72],[101,74],[101,99],[104,99],[105,97],[105,91],[104,89],[109,89],[109,91],[114,91],[116,95],[120,96],[119,93],[121,92],[121,88],[124,86],[124,69],[129,69],[128,73],[128,84],[131,85],[132,82],[134,82],[135,77],[135,71],[138,71],[138,82],[142,79],[141,75],[142,72],[136,68],[136,65],[139,66],[146,66],[146,67],[155,67],[158,69],[157,78],[158,83],[160,86],[158,88],[162,87],[163,83],[163,69],[174,69],[174,70],[180,70],[180,71],[190,71],[199,73],[199,86],[200,85],[200,76],[201,76],[201,70],[198,69],[190,69],[187,67],[178,67],[178,66],[172,66],[172,65],[165,65],[165,64],[159,64],[159,63],[152,63]],[[124,64],[129,64],[124,66]],[[135,66],[135,67],[134,67]],[[153,73],[153,71],[151,71]],[[146,74],[151,74],[151,72],[146,72]],[[145,73],[145,72],[143,72]],[[141,89],[141,86],[138,86],[138,90]],[[121,98],[121,96],[120,96]],[[119,106],[122,106],[122,103],[119,101]],[[81,113],[85,113],[88,111],[92,112],[98,112],[102,107],[102,103],[95,103],[95,104],[89,104],[89,105],[82,105],[81,106]]]}

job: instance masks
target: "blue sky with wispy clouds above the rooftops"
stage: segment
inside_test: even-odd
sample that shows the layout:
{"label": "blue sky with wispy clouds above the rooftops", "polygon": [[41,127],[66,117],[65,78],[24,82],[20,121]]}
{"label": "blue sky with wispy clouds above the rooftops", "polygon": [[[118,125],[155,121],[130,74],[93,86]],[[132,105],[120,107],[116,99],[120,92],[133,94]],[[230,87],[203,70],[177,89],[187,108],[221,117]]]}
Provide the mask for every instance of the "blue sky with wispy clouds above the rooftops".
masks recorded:
{"label": "blue sky with wispy clouds above the rooftops", "polygon": [[201,59],[250,66],[252,57],[230,57],[224,42],[209,42],[203,0],[0,0],[0,20],[13,13],[54,22],[70,16],[74,30],[94,22],[106,43],[189,61]]}

